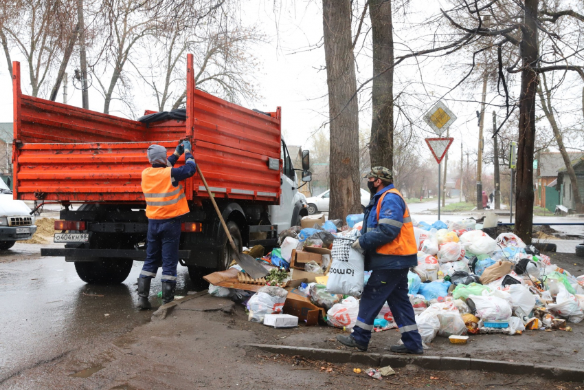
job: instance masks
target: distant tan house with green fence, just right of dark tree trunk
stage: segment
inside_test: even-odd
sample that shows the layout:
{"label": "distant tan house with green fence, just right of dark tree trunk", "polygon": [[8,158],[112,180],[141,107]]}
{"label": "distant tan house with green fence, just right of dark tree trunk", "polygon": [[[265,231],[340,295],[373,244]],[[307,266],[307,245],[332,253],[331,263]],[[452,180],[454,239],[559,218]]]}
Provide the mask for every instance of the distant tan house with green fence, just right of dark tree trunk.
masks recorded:
{"label": "distant tan house with green fence, just right of dark tree trunk", "polygon": [[[583,155],[581,152],[568,152],[570,159],[579,158]],[[557,186],[558,173],[561,169],[565,170],[565,164],[561,153],[539,153],[537,159],[537,184],[535,189],[535,206],[547,208],[555,211],[556,205],[561,204],[560,191]]]}

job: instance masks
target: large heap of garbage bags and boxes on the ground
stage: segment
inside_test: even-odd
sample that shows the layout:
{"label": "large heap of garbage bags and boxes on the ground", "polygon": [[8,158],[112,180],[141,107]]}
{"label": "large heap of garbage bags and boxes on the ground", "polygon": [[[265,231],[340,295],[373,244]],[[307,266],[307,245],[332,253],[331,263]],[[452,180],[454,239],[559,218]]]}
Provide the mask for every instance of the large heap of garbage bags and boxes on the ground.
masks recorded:
{"label": "large heap of garbage bags and boxes on the ground", "polygon": [[[278,270],[270,272],[280,275],[278,281],[266,277],[255,294],[221,290],[246,301],[249,321],[263,323],[265,316],[285,313],[307,325],[315,325],[316,316],[347,331],[355,326],[370,276],[363,252],[351,246],[361,235],[363,214],[348,216],[347,226],[318,218],[284,230],[280,247],[258,257]],[[454,336],[454,343],[466,334],[570,331],[567,322],[584,319],[584,275],[572,276],[513,233],[491,237],[478,227],[474,219],[414,222],[418,266],[408,272],[408,295],[425,343],[436,336]],[[214,285],[209,291],[219,294]],[[313,313],[312,320],[306,312]],[[395,327],[386,303],[374,329]]]}

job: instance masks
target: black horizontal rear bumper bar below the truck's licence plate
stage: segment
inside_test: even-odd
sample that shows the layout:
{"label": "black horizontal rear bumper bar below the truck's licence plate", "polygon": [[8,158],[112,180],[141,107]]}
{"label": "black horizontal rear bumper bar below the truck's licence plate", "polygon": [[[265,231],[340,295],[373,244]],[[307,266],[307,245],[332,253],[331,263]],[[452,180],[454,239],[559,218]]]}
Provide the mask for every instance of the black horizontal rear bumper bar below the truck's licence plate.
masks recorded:
{"label": "black horizontal rear bumper bar below the truck's licence plate", "polygon": [[[72,249],[41,248],[41,256],[66,257],[65,261],[95,261],[104,258],[120,258],[144,261],[146,250],[135,249]],[[188,259],[190,250],[179,250],[179,259]],[[71,258],[74,258],[71,259]]]}

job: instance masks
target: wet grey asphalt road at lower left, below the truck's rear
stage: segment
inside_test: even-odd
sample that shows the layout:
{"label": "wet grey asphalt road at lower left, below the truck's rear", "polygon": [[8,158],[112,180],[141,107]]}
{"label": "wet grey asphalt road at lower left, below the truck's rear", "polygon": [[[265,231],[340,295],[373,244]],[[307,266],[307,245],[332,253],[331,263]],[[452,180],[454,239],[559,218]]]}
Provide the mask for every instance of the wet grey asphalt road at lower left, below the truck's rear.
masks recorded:
{"label": "wet grey asphalt road at lower left, below the truck's rear", "polygon": [[[14,252],[26,255],[34,247],[16,244],[14,251],[0,252],[0,258]],[[0,384],[23,369],[150,321],[152,311],[135,309],[135,283],[141,269],[142,262],[135,261],[124,283],[88,285],[77,276],[74,263],[63,257],[38,254],[38,259],[1,262]],[[150,288],[153,306],[161,304],[154,296],[160,288],[159,272]],[[176,294],[190,290],[187,269],[179,266]]]}

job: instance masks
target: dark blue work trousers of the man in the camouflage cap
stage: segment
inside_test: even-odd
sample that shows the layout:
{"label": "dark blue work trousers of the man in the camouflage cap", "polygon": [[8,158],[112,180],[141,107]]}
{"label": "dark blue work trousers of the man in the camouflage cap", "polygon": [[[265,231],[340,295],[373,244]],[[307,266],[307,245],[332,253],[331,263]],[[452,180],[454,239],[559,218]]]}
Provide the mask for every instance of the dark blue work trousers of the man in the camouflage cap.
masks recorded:
{"label": "dark blue work trousers of the man in the camouflage cap", "polygon": [[412,303],[407,296],[407,268],[401,270],[374,270],[363,288],[359,301],[357,324],[352,336],[361,345],[369,345],[373,321],[385,302],[390,305],[394,321],[407,349],[421,351],[422,338],[418,333]]}

